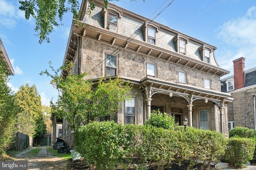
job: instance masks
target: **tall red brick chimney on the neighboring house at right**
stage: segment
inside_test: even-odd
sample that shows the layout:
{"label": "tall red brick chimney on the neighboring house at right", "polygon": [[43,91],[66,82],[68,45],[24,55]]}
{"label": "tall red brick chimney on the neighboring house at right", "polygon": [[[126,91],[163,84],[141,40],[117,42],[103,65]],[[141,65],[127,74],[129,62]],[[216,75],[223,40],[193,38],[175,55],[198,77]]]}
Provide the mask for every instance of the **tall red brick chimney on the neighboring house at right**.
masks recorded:
{"label": "tall red brick chimney on the neighboring house at right", "polygon": [[234,90],[244,87],[245,75],[244,75],[244,57],[236,59],[234,63]]}

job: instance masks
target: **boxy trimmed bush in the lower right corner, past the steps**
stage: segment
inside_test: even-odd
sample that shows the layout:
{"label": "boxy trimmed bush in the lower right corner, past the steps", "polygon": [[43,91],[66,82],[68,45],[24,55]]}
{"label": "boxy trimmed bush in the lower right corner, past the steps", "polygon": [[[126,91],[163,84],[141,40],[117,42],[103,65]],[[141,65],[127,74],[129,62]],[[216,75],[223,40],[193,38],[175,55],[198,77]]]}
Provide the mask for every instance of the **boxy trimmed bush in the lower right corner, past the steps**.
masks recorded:
{"label": "boxy trimmed bush in the lower right corner, past the steps", "polygon": [[225,161],[234,168],[241,168],[249,160],[252,160],[255,150],[255,141],[252,139],[228,139],[228,147],[225,151]]}

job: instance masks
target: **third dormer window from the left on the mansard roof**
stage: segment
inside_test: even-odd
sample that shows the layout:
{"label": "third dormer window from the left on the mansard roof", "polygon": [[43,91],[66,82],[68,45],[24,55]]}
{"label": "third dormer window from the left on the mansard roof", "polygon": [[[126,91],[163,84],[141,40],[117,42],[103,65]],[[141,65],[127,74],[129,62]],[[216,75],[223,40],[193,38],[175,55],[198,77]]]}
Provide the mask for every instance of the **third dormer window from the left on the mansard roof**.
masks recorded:
{"label": "third dormer window from the left on the mansard roof", "polygon": [[177,53],[180,53],[183,55],[187,54],[188,41],[189,41],[189,38],[181,34],[178,34],[173,38],[173,42],[176,47]]}

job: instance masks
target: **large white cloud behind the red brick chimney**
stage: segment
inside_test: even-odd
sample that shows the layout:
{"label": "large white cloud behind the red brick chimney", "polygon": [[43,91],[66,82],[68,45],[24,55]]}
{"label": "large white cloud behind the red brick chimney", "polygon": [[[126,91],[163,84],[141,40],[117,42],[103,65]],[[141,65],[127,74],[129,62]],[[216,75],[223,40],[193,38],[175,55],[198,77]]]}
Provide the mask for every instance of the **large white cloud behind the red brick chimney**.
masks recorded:
{"label": "large white cloud behind the red brick chimney", "polygon": [[[242,17],[232,19],[218,28],[217,37],[226,45],[220,52],[224,58],[219,64],[233,72],[233,60],[244,57],[245,70],[256,66],[256,6],[248,9]],[[225,51],[225,52],[224,52]]]}

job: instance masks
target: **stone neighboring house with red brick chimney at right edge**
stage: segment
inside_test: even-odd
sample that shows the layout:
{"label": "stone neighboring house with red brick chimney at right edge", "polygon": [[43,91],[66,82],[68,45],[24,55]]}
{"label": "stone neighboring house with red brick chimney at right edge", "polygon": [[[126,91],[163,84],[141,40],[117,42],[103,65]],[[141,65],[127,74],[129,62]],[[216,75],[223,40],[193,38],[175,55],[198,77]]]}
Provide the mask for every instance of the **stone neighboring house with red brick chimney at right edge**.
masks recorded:
{"label": "stone neighboring house with red brick chimney at right edge", "polygon": [[234,102],[228,105],[228,129],[256,129],[255,96],[256,67],[244,71],[245,58],[233,61],[234,75],[222,79],[222,92],[231,93]]}

